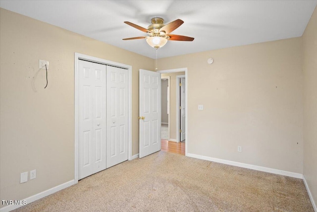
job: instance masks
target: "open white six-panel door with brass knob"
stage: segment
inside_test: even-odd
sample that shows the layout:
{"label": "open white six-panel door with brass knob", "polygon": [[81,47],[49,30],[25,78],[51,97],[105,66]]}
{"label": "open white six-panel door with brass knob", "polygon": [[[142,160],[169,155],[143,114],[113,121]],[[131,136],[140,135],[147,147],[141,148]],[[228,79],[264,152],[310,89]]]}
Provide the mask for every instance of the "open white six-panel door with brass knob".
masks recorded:
{"label": "open white six-panel door with brass knob", "polygon": [[140,70],[139,157],[160,150],[161,78],[159,72]]}

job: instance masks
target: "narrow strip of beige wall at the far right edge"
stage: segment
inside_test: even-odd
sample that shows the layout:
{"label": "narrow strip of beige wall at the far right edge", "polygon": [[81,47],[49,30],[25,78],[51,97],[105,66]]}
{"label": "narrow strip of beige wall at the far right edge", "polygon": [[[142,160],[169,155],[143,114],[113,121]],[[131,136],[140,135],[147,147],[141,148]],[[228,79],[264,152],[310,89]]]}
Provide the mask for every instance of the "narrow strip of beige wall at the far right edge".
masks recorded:
{"label": "narrow strip of beige wall at the far right edge", "polygon": [[304,177],[317,204],[317,7],[303,34]]}

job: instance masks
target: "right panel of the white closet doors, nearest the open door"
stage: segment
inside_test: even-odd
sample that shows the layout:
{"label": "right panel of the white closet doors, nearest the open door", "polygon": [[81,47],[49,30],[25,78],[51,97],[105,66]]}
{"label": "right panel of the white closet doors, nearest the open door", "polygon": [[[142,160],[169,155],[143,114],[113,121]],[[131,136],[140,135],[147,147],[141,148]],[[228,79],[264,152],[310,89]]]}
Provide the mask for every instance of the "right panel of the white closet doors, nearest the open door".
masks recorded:
{"label": "right panel of the white closet doors, nearest the open door", "polygon": [[128,159],[128,71],[107,66],[106,167]]}

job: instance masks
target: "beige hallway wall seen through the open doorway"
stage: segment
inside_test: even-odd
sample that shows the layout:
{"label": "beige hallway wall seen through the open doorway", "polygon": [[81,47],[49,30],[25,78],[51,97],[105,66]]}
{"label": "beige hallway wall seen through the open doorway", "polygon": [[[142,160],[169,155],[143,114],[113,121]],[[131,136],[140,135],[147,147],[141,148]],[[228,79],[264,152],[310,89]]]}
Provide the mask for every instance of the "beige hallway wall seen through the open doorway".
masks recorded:
{"label": "beige hallway wall seen through the open doorway", "polygon": [[185,75],[184,71],[180,72],[172,72],[172,73],[162,73],[161,76],[170,76],[170,114],[169,114],[169,122],[170,122],[170,127],[169,127],[169,139],[176,140],[176,134],[177,134],[177,129],[176,129],[176,102],[177,102],[177,96],[176,96],[176,85],[178,84],[176,82],[176,76],[178,75]]}

